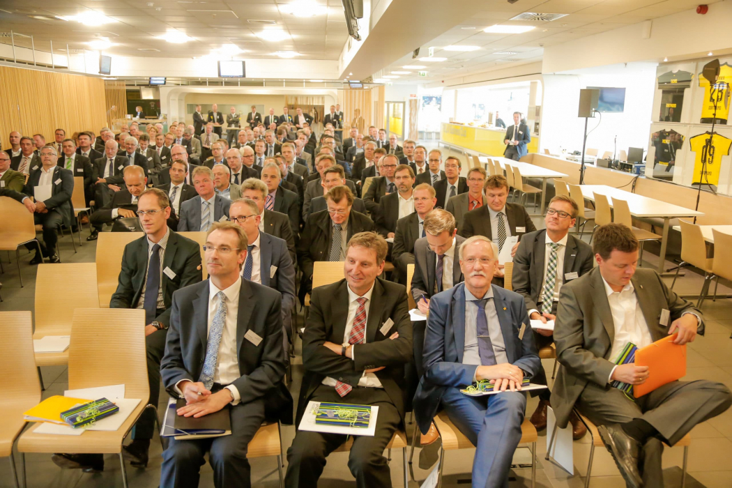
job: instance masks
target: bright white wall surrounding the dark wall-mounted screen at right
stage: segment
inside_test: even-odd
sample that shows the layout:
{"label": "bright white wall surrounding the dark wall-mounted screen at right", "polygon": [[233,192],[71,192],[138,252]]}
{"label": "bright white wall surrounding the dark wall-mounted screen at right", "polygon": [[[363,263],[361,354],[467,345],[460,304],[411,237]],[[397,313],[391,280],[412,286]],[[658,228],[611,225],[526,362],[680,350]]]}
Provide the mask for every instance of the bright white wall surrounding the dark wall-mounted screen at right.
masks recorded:
{"label": "bright white wall surrounding the dark wall-mounted screen at right", "polygon": [[648,149],[651,108],[656,80],[655,63],[629,63],[609,67],[578,70],[566,74],[544,75],[542,104],[542,139],[539,151],[559,148],[582,150],[585,119],[578,114],[580,89],[588,86],[625,88],[622,113],[602,113],[589,119],[587,147],[613,151],[629,147]]}

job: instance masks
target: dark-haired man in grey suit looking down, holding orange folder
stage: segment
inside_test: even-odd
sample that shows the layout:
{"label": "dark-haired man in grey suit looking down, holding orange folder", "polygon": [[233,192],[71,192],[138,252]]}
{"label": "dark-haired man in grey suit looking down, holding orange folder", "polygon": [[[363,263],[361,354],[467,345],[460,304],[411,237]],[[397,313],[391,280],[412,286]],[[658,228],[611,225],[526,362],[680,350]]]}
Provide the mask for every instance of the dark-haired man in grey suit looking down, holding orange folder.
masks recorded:
{"label": "dark-haired man in grey suit looking down, holding orange folder", "polygon": [[629,343],[644,348],[676,334],[673,342],[684,345],[704,333],[704,322],[656,271],[636,269],[638,240],[629,228],[603,225],[592,250],[597,268],[559,292],[554,341],[562,367],[551,395],[557,426],[567,426],[576,405],[600,426],[629,487],[662,487],[662,442],[673,446],[696,424],[720,415],[732,394],[707,380],[672,381],[636,399],[613,388],[614,382],[643,384],[656,373],[635,363],[616,365]]}

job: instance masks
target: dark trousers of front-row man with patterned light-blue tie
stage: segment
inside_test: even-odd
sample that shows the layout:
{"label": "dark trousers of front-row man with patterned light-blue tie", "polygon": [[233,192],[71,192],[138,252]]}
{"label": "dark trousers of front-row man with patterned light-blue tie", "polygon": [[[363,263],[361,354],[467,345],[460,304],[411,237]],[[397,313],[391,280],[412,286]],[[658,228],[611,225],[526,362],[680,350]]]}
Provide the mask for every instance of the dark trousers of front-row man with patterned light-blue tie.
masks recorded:
{"label": "dark trousers of front-row man with patterned light-blue tie", "polygon": [[[220,386],[215,385],[213,391],[220,389]],[[230,405],[229,413],[231,435],[201,440],[170,438],[168,448],[163,451],[160,488],[197,488],[206,452],[209,453],[209,464],[214,469],[214,487],[252,486],[247,449],[264,421],[264,399],[244,405]]]}

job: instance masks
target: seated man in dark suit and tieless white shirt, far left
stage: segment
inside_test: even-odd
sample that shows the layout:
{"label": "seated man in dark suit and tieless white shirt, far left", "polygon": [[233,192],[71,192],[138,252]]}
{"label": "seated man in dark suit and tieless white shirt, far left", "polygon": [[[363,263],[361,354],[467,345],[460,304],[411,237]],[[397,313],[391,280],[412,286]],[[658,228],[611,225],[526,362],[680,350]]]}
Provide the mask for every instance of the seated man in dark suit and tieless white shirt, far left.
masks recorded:
{"label": "seated man in dark suit and tieless white shirt, far left", "polygon": [[[31,139],[32,140],[32,139]],[[51,263],[59,263],[56,243],[59,240],[61,224],[71,226],[71,195],[74,192],[74,176],[70,170],[61,168],[59,154],[53,146],[43,146],[40,152],[41,166],[31,171],[23,187],[23,193],[36,200],[34,222],[43,226],[43,243],[41,253],[31,259],[31,264],[43,262],[48,256]],[[43,191],[36,195],[36,192]],[[50,196],[49,196],[50,195]],[[34,249],[34,244],[26,244],[26,248]]]}

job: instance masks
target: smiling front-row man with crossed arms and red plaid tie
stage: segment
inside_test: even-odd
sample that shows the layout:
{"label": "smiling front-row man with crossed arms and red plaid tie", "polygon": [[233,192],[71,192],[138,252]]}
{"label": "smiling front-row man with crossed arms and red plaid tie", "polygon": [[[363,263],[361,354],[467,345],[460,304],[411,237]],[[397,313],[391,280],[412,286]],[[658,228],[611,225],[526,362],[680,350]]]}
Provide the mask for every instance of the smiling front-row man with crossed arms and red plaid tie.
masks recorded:
{"label": "smiling front-row man with crossed arms and red plaid tie", "polygon": [[[298,421],[310,401],[378,406],[376,434],[355,436],[348,457],[359,487],[392,486],[384,448],[405,424],[404,364],[411,359],[411,323],[404,287],[378,278],[385,258],[383,237],[354,235],[346,250],[346,278],[313,290],[302,338],[305,378]],[[287,451],[285,486],[316,487],[326,457],[347,438],[297,432]]]}

